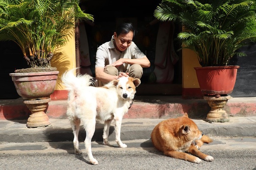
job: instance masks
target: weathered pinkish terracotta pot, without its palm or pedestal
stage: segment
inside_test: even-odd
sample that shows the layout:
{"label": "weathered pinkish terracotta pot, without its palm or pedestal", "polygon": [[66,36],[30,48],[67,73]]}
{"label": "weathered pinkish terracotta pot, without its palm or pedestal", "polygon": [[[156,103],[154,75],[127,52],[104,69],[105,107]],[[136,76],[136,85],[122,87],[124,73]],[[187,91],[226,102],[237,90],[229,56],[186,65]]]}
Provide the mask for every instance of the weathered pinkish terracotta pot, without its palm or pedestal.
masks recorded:
{"label": "weathered pinkish terracotta pot, without its palm or pedestal", "polygon": [[10,73],[17,93],[23,100],[50,98],[56,86],[59,71]]}

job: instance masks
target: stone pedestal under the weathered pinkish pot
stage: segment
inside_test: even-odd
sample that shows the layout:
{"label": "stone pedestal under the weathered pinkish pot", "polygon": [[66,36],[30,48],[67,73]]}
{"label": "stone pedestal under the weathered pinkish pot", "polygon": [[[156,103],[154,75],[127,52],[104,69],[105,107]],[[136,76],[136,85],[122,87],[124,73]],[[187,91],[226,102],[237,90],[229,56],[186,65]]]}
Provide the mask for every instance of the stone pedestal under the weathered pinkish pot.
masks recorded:
{"label": "stone pedestal under the weathered pinkish pot", "polygon": [[24,104],[31,111],[27,127],[46,127],[51,125],[49,117],[44,112],[50,101],[50,98],[44,100],[24,100]]}

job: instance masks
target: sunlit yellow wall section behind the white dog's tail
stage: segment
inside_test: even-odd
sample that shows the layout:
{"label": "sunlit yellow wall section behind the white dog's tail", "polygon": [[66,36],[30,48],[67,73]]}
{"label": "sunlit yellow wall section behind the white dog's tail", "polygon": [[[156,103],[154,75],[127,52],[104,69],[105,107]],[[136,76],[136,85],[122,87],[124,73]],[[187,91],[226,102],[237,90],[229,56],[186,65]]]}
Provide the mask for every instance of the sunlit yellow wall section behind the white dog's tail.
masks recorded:
{"label": "sunlit yellow wall section behind the white dog's tail", "polygon": [[76,47],[74,31],[71,31],[67,36],[66,44],[55,50],[51,61],[51,66],[57,67],[57,70],[60,72],[58,74],[55,90],[65,90],[65,87],[61,84],[60,77],[66,70],[76,68]]}

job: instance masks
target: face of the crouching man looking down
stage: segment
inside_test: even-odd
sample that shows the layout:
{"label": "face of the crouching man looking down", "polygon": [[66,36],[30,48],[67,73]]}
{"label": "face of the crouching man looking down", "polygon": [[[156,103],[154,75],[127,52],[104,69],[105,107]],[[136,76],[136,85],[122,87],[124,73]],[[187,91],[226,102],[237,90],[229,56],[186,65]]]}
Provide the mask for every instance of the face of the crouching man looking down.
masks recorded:
{"label": "face of the crouching man looking down", "polygon": [[126,50],[132,44],[133,32],[130,31],[127,34],[120,34],[117,36],[116,32],[114,32],[114,39],[116,49],[118,51]]}

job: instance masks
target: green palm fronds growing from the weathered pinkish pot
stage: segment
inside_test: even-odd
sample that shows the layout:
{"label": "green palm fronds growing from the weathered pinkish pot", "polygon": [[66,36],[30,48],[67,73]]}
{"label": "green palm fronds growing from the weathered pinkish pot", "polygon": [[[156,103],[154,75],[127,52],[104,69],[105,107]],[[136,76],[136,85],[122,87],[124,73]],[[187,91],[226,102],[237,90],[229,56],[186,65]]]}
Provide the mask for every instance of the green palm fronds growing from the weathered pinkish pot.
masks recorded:
{"label": "green palm fronds growing from the weathered pinkish pot", "polygon": [[55,48],[64,45],[76,20],[93,21],[79,0],[1,0],[0,41],[16,42],[30,67],[50,66]]}

